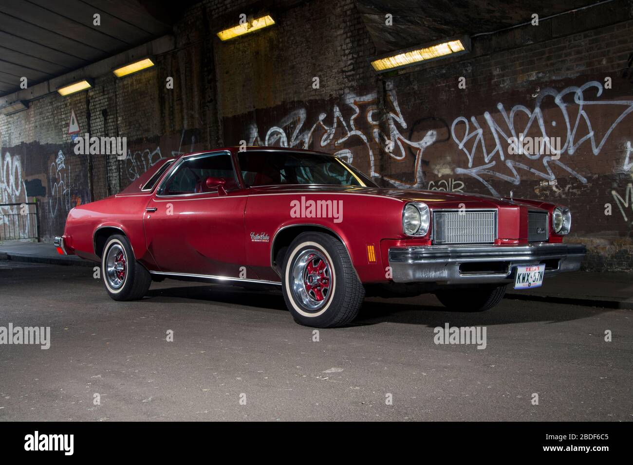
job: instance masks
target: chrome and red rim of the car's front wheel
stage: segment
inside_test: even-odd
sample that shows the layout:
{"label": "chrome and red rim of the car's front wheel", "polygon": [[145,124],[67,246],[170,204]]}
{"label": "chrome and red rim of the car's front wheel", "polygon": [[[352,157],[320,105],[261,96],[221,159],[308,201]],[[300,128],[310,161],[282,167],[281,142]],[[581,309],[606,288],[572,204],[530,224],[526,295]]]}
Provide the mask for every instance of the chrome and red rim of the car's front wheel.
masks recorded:
{"label": "chrome and red rim of the car's front wheel", "polygon": [[309,311],[317,311],[330,300],[334,288],[332,267],[323,252],[307,249],[292,266],[292,294]]}

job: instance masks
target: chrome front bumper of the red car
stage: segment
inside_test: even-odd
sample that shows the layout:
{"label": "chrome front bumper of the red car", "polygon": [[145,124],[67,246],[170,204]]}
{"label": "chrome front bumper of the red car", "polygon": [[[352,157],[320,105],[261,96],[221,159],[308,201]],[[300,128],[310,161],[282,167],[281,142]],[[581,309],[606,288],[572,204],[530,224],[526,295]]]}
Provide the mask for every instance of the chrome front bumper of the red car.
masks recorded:
{"label": "chrome front bumper of the red car", "polygon": [[389,249],[396,283],[508,283],[518,264],[545,264],[546,276],[580,269],[582,244],[429,245]]}

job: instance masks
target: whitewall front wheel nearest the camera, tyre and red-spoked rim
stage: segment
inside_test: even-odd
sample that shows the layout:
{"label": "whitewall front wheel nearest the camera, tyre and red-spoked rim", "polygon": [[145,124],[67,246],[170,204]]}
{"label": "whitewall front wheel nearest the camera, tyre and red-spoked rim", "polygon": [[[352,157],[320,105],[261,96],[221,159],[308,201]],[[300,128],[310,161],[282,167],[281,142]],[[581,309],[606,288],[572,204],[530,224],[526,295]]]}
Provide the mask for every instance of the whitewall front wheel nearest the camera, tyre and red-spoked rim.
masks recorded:
{"label": "whitewall front wheel nearest the camera, tyre and red-spoked rim", "polygon": [[365,288],[341,241],[325,233],[301,233],[284,258],[282,290],[294,321],[315,328],[348,324]]}

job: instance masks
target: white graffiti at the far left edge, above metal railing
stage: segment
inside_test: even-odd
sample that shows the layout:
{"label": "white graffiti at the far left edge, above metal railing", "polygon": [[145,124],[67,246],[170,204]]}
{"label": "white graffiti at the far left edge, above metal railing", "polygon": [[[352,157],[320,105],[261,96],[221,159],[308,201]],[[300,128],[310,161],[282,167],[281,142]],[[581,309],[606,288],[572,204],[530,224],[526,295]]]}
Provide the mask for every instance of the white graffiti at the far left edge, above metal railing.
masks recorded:
{"label": "white graffiti at the far left edge, above metal railing", "polygon": [[[9,152],[0,153],[0,204],[15,204],[27,202],[27,188],[22,179],[22,163],[20,157],[11,156]],[[20,206],[0,207],[0,227],[15,227],[15,214],[20,213]],[[11,215],[11,216],[2,216]],[[28,221],[18,222],[19,237],[28,237],[30,225]]]}

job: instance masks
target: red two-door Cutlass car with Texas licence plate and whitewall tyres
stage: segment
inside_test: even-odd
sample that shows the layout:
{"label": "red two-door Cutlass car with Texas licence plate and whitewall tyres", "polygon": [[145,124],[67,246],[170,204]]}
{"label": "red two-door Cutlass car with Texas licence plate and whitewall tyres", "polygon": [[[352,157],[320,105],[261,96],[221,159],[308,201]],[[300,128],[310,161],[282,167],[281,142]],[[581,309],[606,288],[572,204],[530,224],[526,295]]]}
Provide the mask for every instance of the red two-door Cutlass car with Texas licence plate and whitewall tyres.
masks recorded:
{"label": "red two-door Cutlass car with Texas licence plate and whitewall tyres", "polygon": [[352,321],[365,295],[488,309],[509,283],[580,268],[570,226],[548,202],[381,188],[331,154],[233,147],[161,160],[73,208],[55,244],[101,262],[117,301],[164,278],[281,286],[298,323],[324,328]]}

